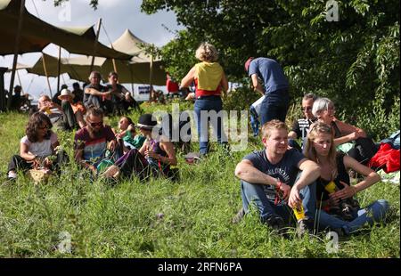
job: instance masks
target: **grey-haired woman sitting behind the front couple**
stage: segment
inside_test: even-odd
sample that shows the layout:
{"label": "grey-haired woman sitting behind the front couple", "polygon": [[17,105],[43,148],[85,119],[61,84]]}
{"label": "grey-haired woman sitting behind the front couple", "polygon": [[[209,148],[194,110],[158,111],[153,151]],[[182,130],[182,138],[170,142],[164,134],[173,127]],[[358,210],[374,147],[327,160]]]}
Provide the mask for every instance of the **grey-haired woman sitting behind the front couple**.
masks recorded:
{"label": "grey-haired woman sitting behind the front couple", "polygon": [[331,126],[334,133],[334,144],[339,146],[346,142],[355,142],[347,154],[366,165],[378,150],[371,138],[363,129],[349,125],[334,117],[334,103],[328,98],[318,98],[313,105],[312,113],[319,122]]}

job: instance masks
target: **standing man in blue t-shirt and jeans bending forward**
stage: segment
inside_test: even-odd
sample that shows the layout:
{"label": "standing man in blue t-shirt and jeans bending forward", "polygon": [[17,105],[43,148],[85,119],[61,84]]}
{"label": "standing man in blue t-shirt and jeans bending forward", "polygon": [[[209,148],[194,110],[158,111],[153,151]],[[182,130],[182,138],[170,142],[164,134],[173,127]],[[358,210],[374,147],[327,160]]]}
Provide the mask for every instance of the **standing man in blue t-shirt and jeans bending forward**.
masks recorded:
{"label": "standing man in blue t-shirt and jeans bending forward", "polygon": [[266,96],[261,103],[260,125],[274,118],[285,122],[290,105],[289,82],[280,64],[268,58],[250,57],[245,62],[245,71],[252,80],[254,91]]}

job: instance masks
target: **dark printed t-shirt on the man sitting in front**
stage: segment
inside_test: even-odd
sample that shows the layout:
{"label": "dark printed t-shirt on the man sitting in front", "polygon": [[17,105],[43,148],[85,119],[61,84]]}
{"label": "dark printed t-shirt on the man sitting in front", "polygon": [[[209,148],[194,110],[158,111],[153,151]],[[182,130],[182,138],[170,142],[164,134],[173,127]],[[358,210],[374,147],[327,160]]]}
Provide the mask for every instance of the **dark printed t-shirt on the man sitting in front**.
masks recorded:
{"label": "dark printed t-shirt on the man sitting in front", "polygon": [[[285,151],[284,156],[277,164],[270,163],[266,157],[266,150],[254,151],[245,156],[243,159],[250,160],[253,166],[255,166],[262,173],[270,175],[274,178],[279,178],[282,183],[286,183],[292,187],[299,172],[299,161],[304,158],[305,157],[298,150],[291,149]],[[266,198],[274,202],[275,186],[262,185],[262,187],[266,193]],[[278,205],[283,204],[285,204],[284,201],[280,202]]]}

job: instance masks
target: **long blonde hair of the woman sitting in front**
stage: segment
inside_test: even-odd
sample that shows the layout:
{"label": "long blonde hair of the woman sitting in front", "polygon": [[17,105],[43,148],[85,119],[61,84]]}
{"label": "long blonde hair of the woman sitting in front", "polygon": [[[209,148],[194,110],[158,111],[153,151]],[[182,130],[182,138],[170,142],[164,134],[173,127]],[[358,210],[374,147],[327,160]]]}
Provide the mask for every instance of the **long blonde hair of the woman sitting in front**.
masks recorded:
{"label": "long blonde hair of the woman sitting in front", "polygon": [[335,179],[338,175],[338,170],[337,170],[337,150],[336,146],[334,144],[334,132],[331,129],[331,126],[322,123],[322,122],[316,122],[313,124],[309,130],[309,133],[307,134],[307,145],[306,145],[306,151],[305,151],[305,156],[312,160],[315,161],[317,164],[320,164],[319,159],[317,158],[317,153],[314,147],[314,141],[317,137],[318,134],[330,134],[331,135],[331,147],[329,150],[329,162],[331,165],[331,180]]}

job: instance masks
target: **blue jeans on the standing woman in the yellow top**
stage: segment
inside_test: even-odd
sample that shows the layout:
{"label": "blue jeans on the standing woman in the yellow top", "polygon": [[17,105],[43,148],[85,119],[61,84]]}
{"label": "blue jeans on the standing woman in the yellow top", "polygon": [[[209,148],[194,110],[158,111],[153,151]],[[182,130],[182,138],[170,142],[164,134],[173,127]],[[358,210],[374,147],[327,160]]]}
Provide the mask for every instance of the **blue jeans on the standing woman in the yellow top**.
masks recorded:
{"label": "blue jeans on the standing woman in the yellow top", "polygon": [[[196,100],[194,105],[194,111],[197,117],[197,128],[198,128],[198,136],[199,136],[199,145],[200,145],[200,153],[206,154],[209,152],[209,122],[210,117],[207,119],[201,119],[201,111],[206,110],[215,110],[217,113],[220,110],[223,110],[223,102],[219,96],[210,96],[206,97],[202,100]],[[217,120],[211,120],[213,133],[217,134],[217,142],[226,143],[227,138],[225,136],[223,130],[223,120],[220,116],[217,117]],[[223,130],[223,131],[222,131]]]}

